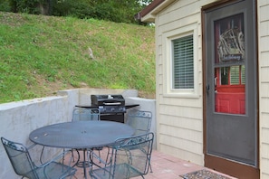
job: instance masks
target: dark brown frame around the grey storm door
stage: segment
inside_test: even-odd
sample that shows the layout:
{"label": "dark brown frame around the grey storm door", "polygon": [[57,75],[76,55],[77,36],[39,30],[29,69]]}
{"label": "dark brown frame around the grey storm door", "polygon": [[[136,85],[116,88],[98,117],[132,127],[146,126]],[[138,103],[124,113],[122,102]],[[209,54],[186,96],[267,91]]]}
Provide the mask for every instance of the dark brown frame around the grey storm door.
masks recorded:
{"label": "dark brown frame around the grey storm door", "polygon": [[[207,166],[208,168],[214,169],[218,172],[224,173],[224,174],[229,174],[232,176],[235,176],[237,178],[242,178],[242,179],[258,179],[260,178],[260,170],[259,170],[259,150],[258,150],[258,161],[257,161],[257,168],[255,168],[252,165],[240,165],[238,163],[235,163],[231,160],[227,160],[225,158],[220,158],[220,157],[216,157],[213,155],[207,155],[207,89],[206,89],[206,42],[205,42],[205,11],[209,10],[213,7],[216,6],[221,6],[221,5],[226,5],[227,3],[231,3],[233,1],[238,1],[238,0],[223,0],[223,1],[217,1],[216,3],[212,3],[210,5],[205,5],[202,7],[201,9],[201,17],[202,17],[202,58],[203,58],[203,142],[204,142],[204,146],[203,146],[203,152],[205,155],[205,166]],[[257,7],[257,2],[255,0],[255,7]],[[257,29],[257,9],[255,10],[255,26]],[[257,43],[257,34],[256,35],[256,44]],[[258,46],[256,45],[256,49],[258,49]],[[257,53],[256,53],[257,55]],[[258,56],[256,57],[256,60],[258,60]],[[256,70],[258,73],[258,61],[256,61]],[[258,78],[258,75],[257,75]],[[258,79],[257,79],[258,81]],[[259,91],[259,88],[257,87],[257,91]],[[257,105],[259,104],[258,101],[258,97],[259,94],[256,95],[257,96]],[[257,111],[259,111],[259,106],[256,107]],[[259,118],[259,113],[257,114],[257,118]],[[259,145],[259,120],[257,121],[257,144]],[[259,147],[257,147],[259,148]]]}

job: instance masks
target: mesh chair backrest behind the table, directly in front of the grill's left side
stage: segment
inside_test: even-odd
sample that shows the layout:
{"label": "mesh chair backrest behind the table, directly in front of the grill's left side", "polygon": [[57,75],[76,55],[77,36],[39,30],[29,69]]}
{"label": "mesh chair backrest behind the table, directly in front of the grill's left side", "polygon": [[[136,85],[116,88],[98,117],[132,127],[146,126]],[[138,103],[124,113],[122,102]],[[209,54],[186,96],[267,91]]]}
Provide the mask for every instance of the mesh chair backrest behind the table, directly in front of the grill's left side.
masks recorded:
{"label": "mesh chair backrest behind the table, directly in front of the grill's left side", "polygon": [[72,111],[72,121],[100,120],[99,108],[74,108]]}

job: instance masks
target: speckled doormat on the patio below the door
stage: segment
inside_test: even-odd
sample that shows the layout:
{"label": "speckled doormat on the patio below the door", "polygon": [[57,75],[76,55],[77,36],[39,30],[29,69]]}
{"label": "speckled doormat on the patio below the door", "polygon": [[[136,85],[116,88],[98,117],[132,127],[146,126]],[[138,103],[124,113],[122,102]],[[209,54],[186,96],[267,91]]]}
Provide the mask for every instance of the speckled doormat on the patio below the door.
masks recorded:
{"label": "speckled doormat on the patio below the door", "polygon": [[198,170],[196,172],[180,175],[184,179],[230,179],[224,175],[216,174],[208,170]]}

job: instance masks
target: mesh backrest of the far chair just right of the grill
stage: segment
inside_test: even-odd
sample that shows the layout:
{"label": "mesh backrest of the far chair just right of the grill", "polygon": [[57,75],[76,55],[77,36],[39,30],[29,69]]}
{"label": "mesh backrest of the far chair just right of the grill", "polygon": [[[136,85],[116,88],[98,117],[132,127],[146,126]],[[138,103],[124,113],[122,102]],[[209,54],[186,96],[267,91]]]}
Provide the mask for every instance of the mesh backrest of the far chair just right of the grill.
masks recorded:
{"label": "mesh backrest of the far chair just right of the grill", "polygon": [[149,133],[152,120],[152,113],[142,110],[130,110],[126,124],[135,129],[134,135]]}

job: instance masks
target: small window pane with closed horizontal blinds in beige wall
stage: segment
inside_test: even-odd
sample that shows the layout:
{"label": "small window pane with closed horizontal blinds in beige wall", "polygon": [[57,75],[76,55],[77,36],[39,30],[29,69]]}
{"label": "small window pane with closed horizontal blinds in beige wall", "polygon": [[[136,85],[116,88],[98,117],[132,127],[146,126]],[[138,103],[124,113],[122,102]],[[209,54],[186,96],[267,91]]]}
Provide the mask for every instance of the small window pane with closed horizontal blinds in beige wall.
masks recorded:
{"label": "small window pane with closed horizontal blinds in beige wall", "polygon": [[194,89],[193,35],[172,40],[173,89]]}

